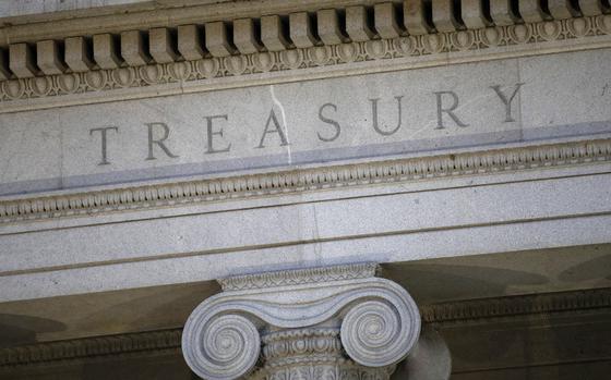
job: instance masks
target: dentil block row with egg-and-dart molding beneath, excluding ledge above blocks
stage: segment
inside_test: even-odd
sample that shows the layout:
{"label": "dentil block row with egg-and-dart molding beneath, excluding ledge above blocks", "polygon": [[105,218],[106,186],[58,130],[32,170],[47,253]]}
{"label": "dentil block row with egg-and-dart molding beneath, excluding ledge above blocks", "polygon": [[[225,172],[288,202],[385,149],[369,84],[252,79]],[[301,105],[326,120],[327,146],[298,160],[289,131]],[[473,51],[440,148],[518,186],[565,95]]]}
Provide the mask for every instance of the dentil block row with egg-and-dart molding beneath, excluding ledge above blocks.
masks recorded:
{"label": "dentil block row with egg-and-dart molding beneath, excluding ledge above blocks", "polygon": [[[469,2],[469,7],[472,4]],[[170,38],[180,25],[176,24],[169,28],[165,25],[161,30],[154,28],[155,33],[146,28],[99,35],[104,38],[97,42],[94,39],[93,50],[84,39],[71,42],[67,47],[76,45],[67,57],[61,57],[57,41],[31,41],[37,44],[37,54],[28,52],[33,48],[25,44],[13,44],[11,64],[0,64],[0,78],[7,79],[0,82],[0,113],[611,47],[611,14],[602,14],[607,12],[603,8],[579,17],[523,14],[524,19],[510,17],[511,22],[491,23],[483,17],[478,23],[452,27],[440,26],[444,17],[460,17],[452,14],[455,11],[440,9],[444,16],[435,19],[436,29],[432,23],[421,26],[424,32],[409,33],[409,25],[407,29],[398,25],[400,17],[395,8],[388,7],[375,4],[372,9],[376,21],[373,28],[364,19],[355,19],[360,25],[342,29],[337,15],[319,15],[315,11],[320,9],[314,8],[316,15],[291,13],[290,20],[299,16],[287,30],[280,27],[280,19],[269,24],[275,25],[269,33],[251,28],[262,23],[261,17],[245,19],[252,23],[244,28],[233,21],[215,22],[206,32],[214,38],[205,42],[200,42],[194,32],[189,37],[179,33],[178,40]],[[403,8],[405,14],[408,10],[407,5]],[[422,20],[431,16],[424,9],[418,12]],[[477,12],[463,8],[463,13]],[[320,22],[308,17],[319,17]],[[319,30],[311,30],[311,24]],[[221,32],[224,27],[233,28],[232,41],[229,33]],[[148,40],[156,45],[143,48],[141,41],[146,38],[139,37],[141,34],[149,34]],[[269,35],[269,40],[262,37],[257,41],[259,34]],[[112,42],[115,39],[120,42]]]}

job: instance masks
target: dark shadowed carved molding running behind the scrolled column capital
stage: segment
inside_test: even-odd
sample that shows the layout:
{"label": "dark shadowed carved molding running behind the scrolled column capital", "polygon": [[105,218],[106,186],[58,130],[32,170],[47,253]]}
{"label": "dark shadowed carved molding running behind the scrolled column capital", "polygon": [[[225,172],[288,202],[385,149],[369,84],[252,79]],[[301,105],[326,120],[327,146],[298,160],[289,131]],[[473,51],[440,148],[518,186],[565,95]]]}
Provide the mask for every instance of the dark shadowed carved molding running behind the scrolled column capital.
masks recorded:
{"label": "dark shadowed carved molding running behind the scrolled column capital", "polygon": [[[551,315],[584,310],[611,311],[611,289],[456,301],[420,307],[423,323],[486,322],[532,315],[547,319]],[[325,331],[336,334],[333,329]],[[158,352],[173,352],[178,355],[181,334],[182,329],[170,329],[5,347],[0,348],[0,368],[108,356],[152,355]],[[293,334],[300,336],[299,332]],[[274,335],[263,338],[264,341],[274,339]]]}

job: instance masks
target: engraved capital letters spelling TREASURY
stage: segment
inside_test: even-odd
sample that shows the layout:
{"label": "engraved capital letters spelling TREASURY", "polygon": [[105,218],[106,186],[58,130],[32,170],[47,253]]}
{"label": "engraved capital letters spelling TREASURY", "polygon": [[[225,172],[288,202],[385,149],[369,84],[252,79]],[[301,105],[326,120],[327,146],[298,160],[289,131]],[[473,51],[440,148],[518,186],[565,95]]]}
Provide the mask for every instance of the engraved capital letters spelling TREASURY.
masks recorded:
{"label": "engraved capital letters spelling TREASURY", "polygon": [[[512,112],[512,105],[519,88],[524,83],[517,83],[513,86],[493,85],[489,86],[492,94],[498,96],[498,100],[503,105],[504,110],[496,112],[496,119],[499,122],[513,123],[516,122],[514,114]],[[432,101],[432,107],[436,110],[436,124],[432,126],[434,130],[444,130],[451,127],[468,127],[468,115],[458,117],[458,107],[460,105],[460,99],[456,91],[454,90],[439,90],[433,91],[434,101]],[[383,106],[379,106],[379,102],[383,101],[381,98],[369,98],[369,108],[371,109],[370,125],[342,125],[339,122],[343,119],[340,110],[336,103],[325,102],[318,108],[318,115],[311,115],[312,125],[316,125],[311,132],[313,136],[299,136],[300,138],[314,139],[315,143],[320,143],[321,147],[325,143],[335,142],[340,135],[343,130],[354,130],[354,128],[371,128],[379,136],[392,136],[396,134],[403,126],[409,124],[408,120],[405,120],[406,107],[404,101],[405,95],[397,95],[392,98],[388,102],[392,105],[385,105],[384,110],[387,111],[381,114],[380,109]],[[361,107],[361,106],[358,106]],[[394,112],[392,110],[394,108]],[[280,108],[279,112],[284,110]],[[231,123],[235,119],[231,114],[214,114],[204,115],[202,121],[202,133],[204,134],[204,146],[202,149],[204,154],[224,154],[230,152],[233,149],[264,149],[269,146],[284,147],[288,146],[288,125],[280,119],[277,114],[276,107],[269,108],[268,112],[263,111],[263,114],[253,114],[252,119],[259,119],[261,121],[261,127],[259,130],[252,131],[255,140],[259,143],[255,146],[248,146],[243,142],[230,142],[225,137],[225,130],[228,128],[239,128],[239,125]],[[285,115],[281,115],[285,118]],[[119,125],[107,125],[100,127],[89,128],[89,135],[97,134],[99,136],[99,149],[100,159],[98,166],[110,164],[110,159],[108,157],[108,144],[113,139],[120,138],[121,130],[124,127],[132,126],[119,126]],[[179,151],[175,150],[172,152],[168,145],[170,133],[172,128],[165,121],[152,121],[142,123],[141,127],[143,131],[143,137],[140,142],[133,142],[134,145],[140,144],[146,146],[146,156],[143,160],[156,160],[157,158],[165,159],[178,159],[180,157]],[[349,133],[349,132],[344,132]],[[110,137],[112,135],[112,137]],[[173,135],[173,134],[172,134]],[[189,136],[187,136],[189,137]],[[181,144],[178,144],[181,145]],[[117,159],[120,159],[118,157]]]}

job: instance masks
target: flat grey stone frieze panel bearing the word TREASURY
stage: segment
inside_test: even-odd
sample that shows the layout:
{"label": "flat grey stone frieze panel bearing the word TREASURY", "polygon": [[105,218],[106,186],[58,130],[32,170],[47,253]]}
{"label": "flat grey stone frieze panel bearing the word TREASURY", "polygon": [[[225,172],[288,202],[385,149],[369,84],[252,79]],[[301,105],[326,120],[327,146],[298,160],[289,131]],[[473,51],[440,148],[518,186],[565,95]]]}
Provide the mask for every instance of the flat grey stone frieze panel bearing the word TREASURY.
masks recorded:
{"label": "flat grey stone frieze panel bearing the word TREASURY", "polygon": [[0,195],[600,137],[609,61],[601,49],[3,114]]}

